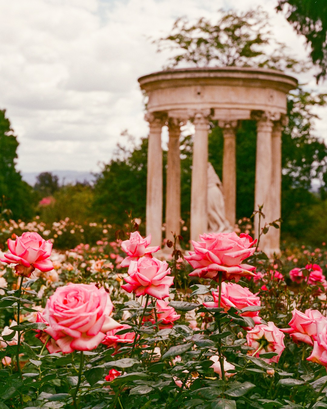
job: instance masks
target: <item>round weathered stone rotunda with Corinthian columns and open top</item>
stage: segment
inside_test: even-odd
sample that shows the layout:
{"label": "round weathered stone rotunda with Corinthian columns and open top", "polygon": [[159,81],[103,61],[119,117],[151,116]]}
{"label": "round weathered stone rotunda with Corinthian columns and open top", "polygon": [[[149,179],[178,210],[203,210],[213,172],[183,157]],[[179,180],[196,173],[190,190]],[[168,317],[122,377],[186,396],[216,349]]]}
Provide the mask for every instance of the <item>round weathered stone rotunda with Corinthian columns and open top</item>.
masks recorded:
{"label": "round weathered stone rotunda with Corinthian columns and open top", "polygon": [[[207,163],[209,121],[218,120],[224,135],[223,175],[226,218],[233,226],[236,215],[236,129],[239,121],[257,122],[255,210],[264,205],[265,222],[280,218],[281,134],[286,121],[287,93],[297,80],[283,72],[261,68],[185,68],[155,72],[139,78],[148,96],[146,121],[148,179],[146,231],[152,245],[162,241],[163,175],[161,128],[168,126],[166,187],[166,238],[180,232],[181,167],[180,127],[195,126],[191,182],[190,237],[199,240],[207,231]],[[246,200],[246,198],[244,198]],[[255,219],[258,234],[258,218]],[[279,252],[280,230],[271,228],[260,247]]]}

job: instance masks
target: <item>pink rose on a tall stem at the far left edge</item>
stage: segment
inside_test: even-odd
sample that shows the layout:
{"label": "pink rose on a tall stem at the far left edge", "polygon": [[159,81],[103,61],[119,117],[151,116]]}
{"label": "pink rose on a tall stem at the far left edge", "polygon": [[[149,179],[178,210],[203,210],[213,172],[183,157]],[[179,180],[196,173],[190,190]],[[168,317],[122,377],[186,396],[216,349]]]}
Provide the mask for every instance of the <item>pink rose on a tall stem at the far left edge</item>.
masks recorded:
{"label": "pink rose on a tall stem at the far left edge", "polygon": [[29,277],[36,268],[43,272],[54,268],[49,260],[51,250],[50,240],[45,241],[35,232],[27,232],[16,237],[16,240],[8,239],[8,252],[0,261],[8,264],[18,263],[15,266],[16,273]]}

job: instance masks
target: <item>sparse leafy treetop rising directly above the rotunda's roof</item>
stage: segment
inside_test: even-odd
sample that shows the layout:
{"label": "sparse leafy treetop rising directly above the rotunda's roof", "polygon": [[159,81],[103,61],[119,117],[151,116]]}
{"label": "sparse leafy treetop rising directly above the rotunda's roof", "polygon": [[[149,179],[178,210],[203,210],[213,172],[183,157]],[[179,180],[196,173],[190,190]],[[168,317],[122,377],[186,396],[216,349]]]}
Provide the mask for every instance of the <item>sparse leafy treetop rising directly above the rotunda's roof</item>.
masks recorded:
{"label": "sparse leafy treetop rising directly above the rotunda's roof", "polygon": [[[178,18],[167,37],[154,41],[159,52],[164,47],[182,51],[170,58],[170,67],[181,62],[197,67],[214,62],[220,67],[305,68],[283,43],[273,38],[268,15],[262,9],[220,10],[220,14],[214,25],[203,17],[195,23],[185,17]],[[267,54],[267,45],[273,50],[270,54]]]}

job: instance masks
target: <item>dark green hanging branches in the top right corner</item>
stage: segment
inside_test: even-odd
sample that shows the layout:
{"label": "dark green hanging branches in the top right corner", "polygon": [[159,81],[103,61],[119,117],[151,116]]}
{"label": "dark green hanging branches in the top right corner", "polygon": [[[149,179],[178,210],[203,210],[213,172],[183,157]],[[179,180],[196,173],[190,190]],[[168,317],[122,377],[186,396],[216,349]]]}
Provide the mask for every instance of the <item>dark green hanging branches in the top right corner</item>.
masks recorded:
{"label": "dark green hanging branches in the top right corner", "polygon": [[[285,7],[285,5],[288,7]],[[320,67],[319,79],[327,75],[327,2],[325,0],[280,0],[278,11],[286,10],[287,21],[307,39],[312,62]]]}

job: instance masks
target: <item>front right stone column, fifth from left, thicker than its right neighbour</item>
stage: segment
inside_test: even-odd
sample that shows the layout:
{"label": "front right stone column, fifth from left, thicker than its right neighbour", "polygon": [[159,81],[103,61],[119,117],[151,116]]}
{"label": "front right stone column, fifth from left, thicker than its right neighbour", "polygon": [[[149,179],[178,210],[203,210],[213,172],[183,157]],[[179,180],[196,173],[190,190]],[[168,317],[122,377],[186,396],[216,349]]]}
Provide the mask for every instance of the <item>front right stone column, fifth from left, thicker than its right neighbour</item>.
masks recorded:
{"label": "front right stone column, fifth from left, thicker than its right neighbour", "polygon": [[[255,198],[254,209],[263,205],[265,218],[261,219],[260,232],[265,223],[272,221],[271,216],[271,173],[272,173],[272,143],[271,133],[274,116],[270,112],[253,112],[253,119],[257,120],[257,150],[255,164]],[[255,238],[258,238],[259,216],[254,218]],[[262,234],[259,247],[270,255],[269,236]],[[267,255],[268,255],[267,254]]]}

